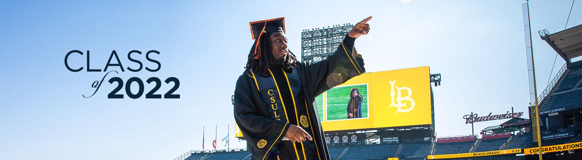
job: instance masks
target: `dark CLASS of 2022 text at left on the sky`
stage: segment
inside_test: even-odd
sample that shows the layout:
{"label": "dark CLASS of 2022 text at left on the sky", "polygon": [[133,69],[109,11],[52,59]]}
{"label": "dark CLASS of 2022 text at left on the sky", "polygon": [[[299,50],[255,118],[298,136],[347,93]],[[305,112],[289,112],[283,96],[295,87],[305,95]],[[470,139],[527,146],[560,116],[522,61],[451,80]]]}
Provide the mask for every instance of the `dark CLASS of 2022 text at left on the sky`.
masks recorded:
{"label": "dark CLASS of 2022 text at left on the sky", "polygon": [[[95,93],[97,93],[97,91],[99,90],[99,88],[101,87],[103,82],[105,81],[105,78],[107,78],[107,76],[109,74],[120,74],[120,72],[125,72],[125,69],[127,69],[128,71],[131,71],[131,72],[143,71],[142,69],[143,69],[144,64],[140,60],[136,60],[136,59],[133,59],[131,57],[132,54],[134,54],[136,56],[144,55],[139,50],[132,50],[129,53],[127,53],[127,59],[129,61],[132,61],[133,63],[139,64],[139,68],[127,67],[124,69],[121,61],[119,60],[119,56],[118,56],[117,52],[115,50],[113,50],[113,52],[111,52],[111,54],[109,56],[109,60],[107,61],[107,64],[105,64],[105,68],[102,71],[101,71],[101,69],[89,68],[89,63],[91,62],[89,53],[90,53],[89,50],[87,50],[86,53],[83,53],[80,50],[71,50],[69,53],[67,53],[65,55],[65,67],[69,71],[79,72],[79,71],[82,71],[84,69],[83,67],[80,67],[80,66],[69,66],[69,57],[70,56],[86,56],[87,57],[87,63],[86,63],[87,64],[87,68],[86,68],[87,72],[105,72],[105,75],[103,76],[103,78],[101,78],[101,81],[94,81],[91,84],[91,88],[94,88],[93,93],[92,94],[83,94],[83,97],[86,97],[86,98],[93,97],[95,95]],[[150,51],[145,53],[145,55],[144,55],[145,59],[148,60],[147,64],[148,65],[154,64],[154,67],[152,67],[152,66],[145,67],[145,71],[157,72],[161,69],[162,64],[159,63],[159,61],[157,61],[157,60],[151,59],[150,54],[160,54],[160,53],[157,50],[150,50]],[[113,57],[115,57],[114,60],[113,60]],[[112,62],[112,60],[113,60],[113,62]],[[111,67],[111,68],[109,68],[109,67]],[[150,67],[152,67],[152,68],[150,68]],[[108,69],[111,71],[107,71]],[[119,70],[119,72],[118,72],[118,70]],[[141,80],[141,78],[132,77],[132,78],[127,79],[126,82],[123,83],[123,79],[121,79],[119,77],[111,77],[111,78],[109,78],[109,80],[107,82],[109,82],[110,84],[113,84],[114,82],[117,83],[117,87],[115,89],[111,90],[111,92],[109,92],[109,94],[107,94],[108,99],[123,99],[124,94],[123,93],[119,94],[119,91],[123,88],[124,85],[125,85],[125,93],[127,94],[127,97],[130,97],[132,99],[137,99],[137,98],[141,97],[144,93],[144,82]],[[158,89],[161,88],[161,85],[162,85],[161,79],[159,79],[157,77],[150,77],[147,80],[145,80],[145,82],[155,84],[155,86],[151,90],[149,90],[147,93],[145,93],[145,98],[146,99],[161,99],[162,94],[156,94]],[[163,96],[164,99],[179,99],[180,94],[173,94],[173,92],[178,90],[178,88],[180,87],[180,81],[178,80],[178,78],[169,77],[169,78],[166,78],[164,80],[164,82],[166,84],[169,84],[170,82],[174,83],[174,86],[164,94],[164,96]],[[139,86],[139,89],[137,90],[136,93],[134,93],[134,92],[132,92],[132,90],[130,90],[131,85],[138,85]]]}

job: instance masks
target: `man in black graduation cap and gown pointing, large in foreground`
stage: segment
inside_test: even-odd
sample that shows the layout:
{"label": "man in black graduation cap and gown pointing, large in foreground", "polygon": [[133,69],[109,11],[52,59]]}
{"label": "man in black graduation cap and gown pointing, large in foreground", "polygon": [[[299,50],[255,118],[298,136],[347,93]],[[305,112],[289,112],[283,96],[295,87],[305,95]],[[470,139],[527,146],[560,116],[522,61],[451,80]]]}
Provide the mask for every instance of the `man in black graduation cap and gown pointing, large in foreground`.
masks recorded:
{"label": "man in black graduation cap and gown pointing, large in foreground", "polygon": [[250,23],[255,42],[236,82],[234,115],[253,159],[330,159],[315,97],[365,72],[352,49],[371,18],[316,63],[299,62],[288,49],[283,17]]}

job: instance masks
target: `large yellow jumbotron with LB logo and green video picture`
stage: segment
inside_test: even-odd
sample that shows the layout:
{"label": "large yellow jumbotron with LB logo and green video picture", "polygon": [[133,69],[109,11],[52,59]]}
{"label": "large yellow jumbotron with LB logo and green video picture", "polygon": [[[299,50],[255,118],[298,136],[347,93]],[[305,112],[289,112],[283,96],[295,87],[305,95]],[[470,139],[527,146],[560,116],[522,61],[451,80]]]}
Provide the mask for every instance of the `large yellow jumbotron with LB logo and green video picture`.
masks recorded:
{"label": "large yellow jumbotron with LB logo and green video picture", "polygon": [[[430,68],[370,72],[329,89],[316,99],[324,131],[432,124]],[[363,100],[350,117],[350,91]],[[347,111],[346,111],[347,110]],[[235,126],[235,136],[242,137]]]}

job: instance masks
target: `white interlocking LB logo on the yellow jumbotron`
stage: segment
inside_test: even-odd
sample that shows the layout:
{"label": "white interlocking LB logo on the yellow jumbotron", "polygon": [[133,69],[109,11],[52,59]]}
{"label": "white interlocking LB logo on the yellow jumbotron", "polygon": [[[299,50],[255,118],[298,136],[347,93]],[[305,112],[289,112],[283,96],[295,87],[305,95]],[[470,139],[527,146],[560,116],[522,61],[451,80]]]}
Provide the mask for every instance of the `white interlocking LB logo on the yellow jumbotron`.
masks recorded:
{"label": "white interlocking LB logo on the yellow jumbotron", "polygon": [[[414,106],[416,106],[416,103],[414,102],[414,99],[411,99],[410,96],[412,96],[412,89],[408,88],[408,87],[398,87],[396,85],[394,85],[394,83],[396,83],[396,81],[388,81],[390,82],[390,86],[391,86],[391,92],[390,92],[390,96],[392,97],[392,103],[390,104],[390,107],[398,107],[398,110],[396,110],[395,114],[398,114],[398,112],[409,112],[411,111]],[[396,93],[394,92],[394,90],[396,90],[396,92],[398,92],[398,96],[396,96]],[[407,90],[406,97],[402,97],[402,90]],[[407,101],[410,101],[410,107],[406,107],[406,103]]]}

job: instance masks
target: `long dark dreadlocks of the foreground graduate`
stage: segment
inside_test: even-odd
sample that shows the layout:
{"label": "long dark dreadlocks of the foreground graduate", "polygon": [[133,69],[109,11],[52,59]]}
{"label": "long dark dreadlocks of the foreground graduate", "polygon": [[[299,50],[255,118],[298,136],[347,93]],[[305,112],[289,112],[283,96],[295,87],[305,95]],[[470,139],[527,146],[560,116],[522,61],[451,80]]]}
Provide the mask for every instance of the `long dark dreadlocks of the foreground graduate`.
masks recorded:
{"label": "long dark dreadlocks of the foreground graduate", "polygon": [[[247,60],[247,64],[244,67],[244,68],[246,68],[244,70],[245,73],[250,71],[250,70],[253,70],[261,77],[270,77],[271,76],[271,74],[269,74],[268,69],[271,66],[271,64],[277,63],[275,60],[275,57],[271,53],[271,39],[269,38],[271,36],[271,34],[272,33],[261,35],[260,39],[263,39],[263,41],[260,41],[258,44],[258,48],[260,49],[260,50],[257,50],[257,54],[260,54],[258,59],[254,59],[255,55],[253,55],[253,53],[255,51],[255,45],[257,44],[257,39],[259,39],[259,38],[255,38],[255,42],[253,43],[253,47],[251,48],[251,50],[249,52],[249,56],[248,56],[249,59]],[[295,56],[295,54],[293,54],[293,52],[291,52],[291,50],[289,50],[289,54],[287,54],[287,56],[285,57],[285,62],[283,62],[281,67],[285,71],[290,71],[293,69],[293,64],[296,62],[297,62],[297,57]]]}

